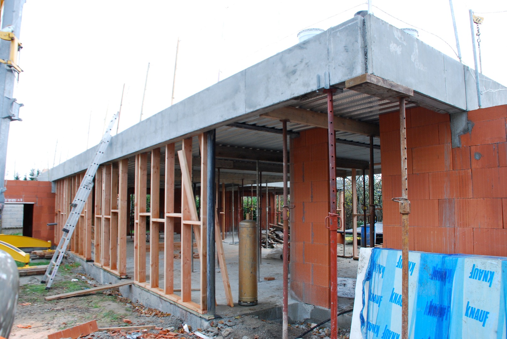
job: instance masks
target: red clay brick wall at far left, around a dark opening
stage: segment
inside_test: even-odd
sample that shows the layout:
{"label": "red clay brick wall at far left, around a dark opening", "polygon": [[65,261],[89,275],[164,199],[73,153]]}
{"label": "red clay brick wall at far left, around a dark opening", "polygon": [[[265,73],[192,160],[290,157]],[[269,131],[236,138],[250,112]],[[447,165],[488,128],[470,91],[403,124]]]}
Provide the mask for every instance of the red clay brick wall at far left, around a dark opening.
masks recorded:
{"label": "red clay brick wall at far left, around a dark opening", "polygon": [[33,206],[32,237],[53,241],[55,220],[55,194],[51,193],[51,181],[6,180],[6,202],[35,203]]}

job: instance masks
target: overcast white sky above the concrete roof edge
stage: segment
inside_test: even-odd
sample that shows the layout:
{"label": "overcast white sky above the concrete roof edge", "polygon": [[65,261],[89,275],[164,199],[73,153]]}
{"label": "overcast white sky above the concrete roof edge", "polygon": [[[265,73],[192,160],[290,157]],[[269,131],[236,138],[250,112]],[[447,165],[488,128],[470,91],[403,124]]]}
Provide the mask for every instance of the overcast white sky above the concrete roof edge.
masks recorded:
{"label": "overcast white sky above the concrete roof edge", "polygon": [[[373,5],[377,17],[428,31],[419,30],[421,40],[457,59],[447,0],[373,0]],[[468,9],[500,12],[477,13],[485,17],[482,68],[507,85],[507,2],[454,0],[453,5],[463,62],[470,66]],[[107,124],[119,109],[123,84],[119,129],[137,123],[148,62],[143,119],[169,106],[178,36],[175,102],[216,83],[219,70],[224,79],[296,44],[301,29],[328,29],[365,9],[366,0],[27,0],[20,33],[24,72],[14,93],[25,106],[23,121],[11,123],[6,179],[15,172],[23,177],[30,168],[51,168],[96,145],[104,120]]]}

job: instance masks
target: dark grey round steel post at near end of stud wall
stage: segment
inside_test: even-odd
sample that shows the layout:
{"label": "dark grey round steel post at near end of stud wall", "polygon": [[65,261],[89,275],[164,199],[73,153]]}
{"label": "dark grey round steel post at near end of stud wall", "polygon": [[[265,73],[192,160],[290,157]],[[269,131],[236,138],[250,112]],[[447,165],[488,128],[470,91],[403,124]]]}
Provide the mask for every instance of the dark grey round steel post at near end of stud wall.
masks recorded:
{"label": "dark grey round steel post at near end of stud wall", "polygon": [[[206,189],[206,295],[208,314],[215,315],[215,130],[207,135],[207,189]],[[204,184],[204,182],[202,183]],[[204,239],[203,239],[204,241]]]}

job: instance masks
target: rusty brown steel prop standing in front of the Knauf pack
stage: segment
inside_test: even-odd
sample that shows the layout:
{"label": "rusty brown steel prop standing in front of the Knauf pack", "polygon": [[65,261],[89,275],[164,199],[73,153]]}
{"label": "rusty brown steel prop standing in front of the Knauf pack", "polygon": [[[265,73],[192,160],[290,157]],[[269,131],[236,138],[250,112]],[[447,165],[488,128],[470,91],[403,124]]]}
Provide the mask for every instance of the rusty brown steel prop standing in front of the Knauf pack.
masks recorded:
{"label": "rusty brown steel prop standing in front of the Knauf pack", "polygon": [[392,198],[400,203],[402,215],[402,339],[408,339],[409,323],[409,213],[407,175],[407,126],[405,121],[405,98],[400,98],[400,141],[402,163],[402,196]]}

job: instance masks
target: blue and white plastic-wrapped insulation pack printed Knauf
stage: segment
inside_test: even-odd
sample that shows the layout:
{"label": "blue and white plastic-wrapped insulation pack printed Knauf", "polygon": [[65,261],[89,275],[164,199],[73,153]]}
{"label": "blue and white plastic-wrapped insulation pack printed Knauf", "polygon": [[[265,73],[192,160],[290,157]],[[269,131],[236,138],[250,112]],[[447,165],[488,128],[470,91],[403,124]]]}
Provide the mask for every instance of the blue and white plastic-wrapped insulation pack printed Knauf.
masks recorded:
{"label": "blue and white plastic-wrapped insulation pack printed Knauf", "polygon": [[[409,252],[409,337],[506,338],[507,258]],[[398,339],[402,251],[361,248],[351,339]]]}

